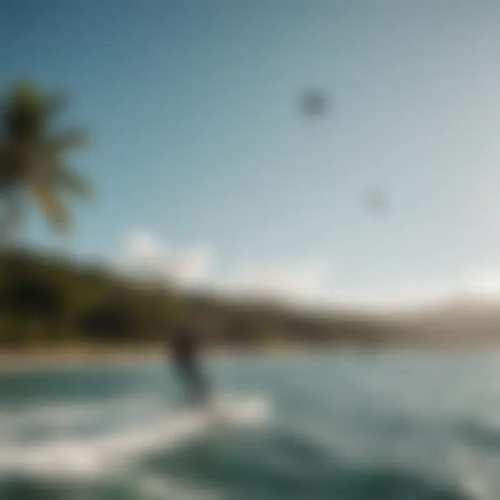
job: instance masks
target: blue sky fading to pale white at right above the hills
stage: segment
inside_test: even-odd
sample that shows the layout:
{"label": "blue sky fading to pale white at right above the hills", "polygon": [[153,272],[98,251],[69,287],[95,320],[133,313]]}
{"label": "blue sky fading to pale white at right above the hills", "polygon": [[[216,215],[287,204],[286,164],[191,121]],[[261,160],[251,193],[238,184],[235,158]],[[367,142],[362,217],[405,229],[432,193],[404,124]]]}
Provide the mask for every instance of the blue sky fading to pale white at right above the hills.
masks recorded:
{"label": "blue sky fading to pale white at right above the hills", "polygon": [[[0,0],[0,81],[68,90],[92,133],[81,258],[322,301],[496,294],[498,19],[497,0]],[[28,238],[51,244],[39,219]]]}

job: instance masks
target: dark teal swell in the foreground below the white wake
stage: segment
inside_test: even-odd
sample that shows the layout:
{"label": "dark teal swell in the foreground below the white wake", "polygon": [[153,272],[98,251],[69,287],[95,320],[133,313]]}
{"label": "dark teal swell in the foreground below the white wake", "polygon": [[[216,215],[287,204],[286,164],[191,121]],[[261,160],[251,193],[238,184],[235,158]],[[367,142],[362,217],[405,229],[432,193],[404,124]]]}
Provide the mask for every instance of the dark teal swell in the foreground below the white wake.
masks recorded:
{"label": "dark teal swell in the foreground below the white wake", "polygon": [[402,466],[345,462],[319,442],[276,430],[194,443],[147,467],[235,500],[483,500],[472,479],[465,487]]}

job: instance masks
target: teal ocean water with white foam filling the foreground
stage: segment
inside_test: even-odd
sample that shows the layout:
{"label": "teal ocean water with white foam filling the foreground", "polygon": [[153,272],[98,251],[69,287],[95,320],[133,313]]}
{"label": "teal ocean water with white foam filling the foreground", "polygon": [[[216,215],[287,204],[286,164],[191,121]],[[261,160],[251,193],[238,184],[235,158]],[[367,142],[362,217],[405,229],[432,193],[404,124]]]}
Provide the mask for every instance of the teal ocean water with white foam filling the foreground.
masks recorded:
{"label": "teal ocean water with white foam filling the foreground", "polygon": [[213,359],[219,424],[181,411],[160,363],[3,372],[0,499],[500,499],[499,361]]}

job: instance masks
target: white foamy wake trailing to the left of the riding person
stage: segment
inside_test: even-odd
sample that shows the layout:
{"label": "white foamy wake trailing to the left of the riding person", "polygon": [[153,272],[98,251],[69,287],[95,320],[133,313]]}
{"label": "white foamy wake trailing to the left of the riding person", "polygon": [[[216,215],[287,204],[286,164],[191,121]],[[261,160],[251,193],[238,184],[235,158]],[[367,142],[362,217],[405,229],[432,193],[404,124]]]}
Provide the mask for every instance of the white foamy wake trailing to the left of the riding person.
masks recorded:
{"label": "white foamy wake trailing to the left of the riding person", "polygon": [[154,424],[86,440],[56,440],[0,449],[0,471],[29,472],[43,476],[95,477],[154,451],[172,450],[206,435],[219,426],[247,427],[268,415],[262,398],[219,399],[207,410],[171,412]]}

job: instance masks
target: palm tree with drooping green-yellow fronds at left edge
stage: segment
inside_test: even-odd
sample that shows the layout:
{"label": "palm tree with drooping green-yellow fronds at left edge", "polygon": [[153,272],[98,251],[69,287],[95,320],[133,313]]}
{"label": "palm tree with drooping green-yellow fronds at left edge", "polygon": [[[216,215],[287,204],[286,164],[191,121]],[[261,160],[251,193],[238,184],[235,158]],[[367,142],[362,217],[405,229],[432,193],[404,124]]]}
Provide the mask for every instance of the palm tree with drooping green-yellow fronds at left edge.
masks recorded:
{"label": "palm tree with drooping green-yellow fronds at left edge", "polygon": [[65,232],[71,226],[60,194],[80,197],[90,186],[65,164],[63,156],[85,140],[82,131],[53,131],[53,119],[65,107],[62,96],[44,95],[30,83],[13,86],[0,109],[0,243],[19,228],[26,195],[35,199],[49,224]]}

